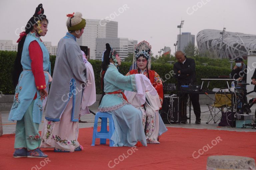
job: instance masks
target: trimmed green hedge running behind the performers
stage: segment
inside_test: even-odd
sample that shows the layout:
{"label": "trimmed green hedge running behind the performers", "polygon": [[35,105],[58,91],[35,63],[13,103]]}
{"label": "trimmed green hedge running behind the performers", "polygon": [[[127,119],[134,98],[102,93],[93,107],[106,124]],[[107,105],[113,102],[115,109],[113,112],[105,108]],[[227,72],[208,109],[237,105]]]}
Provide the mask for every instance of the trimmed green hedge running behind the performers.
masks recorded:
{"label": "trimmed green hedge running behind the performers", "polygon": [[[13,63],[16,57],[15,51],[0,51],[0,92],[3,94],[14,94],[14,87],[12,85],[12,75],[11,72],[13,70]],[[51,74],[54,70],[56,56],[51,55]],[[101,94],[101,83],[100,83],[100,72],[101,72],[101,61],[99,60],[89,60],[89,62],[93,66],[93,71],[95,75],[95,84],[96,84],[96,92],[97,94]],[[122,62],[120,66],[120,72],[122,74],[126,74],[129,71],[131,66],[131,62]],[[152,70],[155,70],[160,77],[162,78],[164,83],[177,83],[176,79],[171,76],[173,75],[173,64],[157,64],[152,63]],[[221,68],[221,67],[213,67],[213,66],[196,66],[196,74],[197,74],[197,82],[201,83],[201,78],[208,78],[211,76],[219,76],[219,75],[229,75],[230,69]],[[205,84],[206,85],[206,84]],[[212,81],[210,83],[209,89],[214,87],[221,88],[226,87],[227,84],[224,81]]]}

